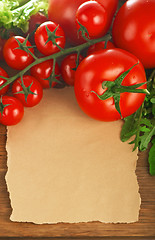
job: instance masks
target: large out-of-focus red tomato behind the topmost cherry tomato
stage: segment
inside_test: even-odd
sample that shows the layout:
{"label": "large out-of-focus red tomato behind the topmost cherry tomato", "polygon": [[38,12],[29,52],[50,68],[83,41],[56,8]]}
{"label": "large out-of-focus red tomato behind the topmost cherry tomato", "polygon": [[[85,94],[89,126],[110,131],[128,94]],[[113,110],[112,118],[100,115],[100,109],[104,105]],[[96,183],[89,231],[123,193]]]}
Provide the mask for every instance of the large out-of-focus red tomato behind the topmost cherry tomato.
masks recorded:
{"label": "large out-of-focus red tomato behind the topmost cherry tomato", "polygon": [[[66,39],[73,44],[79,44],[83,40],[78,39],[76,28],[76,11],[86,0],[49,0],[48,18],[64,29]],[[118,0],[98,0],[107,11],[107,31],[117,9]]]}

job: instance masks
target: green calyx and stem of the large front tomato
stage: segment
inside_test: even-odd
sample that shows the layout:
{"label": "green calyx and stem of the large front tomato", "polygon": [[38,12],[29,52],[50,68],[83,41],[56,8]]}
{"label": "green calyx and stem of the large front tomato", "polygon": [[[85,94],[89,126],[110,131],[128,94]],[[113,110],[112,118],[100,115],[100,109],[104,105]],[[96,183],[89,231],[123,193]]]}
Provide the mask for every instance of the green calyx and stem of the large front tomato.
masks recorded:
{"label": "green calyx and stem of the large front tomato", "polygon": [[137,89],[145,83],[139,83],[134,84],[131,86],[123,86],[122,82],[124,78],[128,75],[128,73],[134,68],[138,63],[134,64],[131,68],[129,68],[127,71],[123,72],[115,81],[103,81],[102,88],[105,90],[105,92],[102,95],[97,94],[95,91],[91,91],[97,95],[97,97],[100,100],[106,100],[108,98],[113,97],[115,108],[119,112],[119,114],[122,117],[121,110],[120,110],[120,94],[125,92],[131,92],[131,93],[144,93],[144,94],[150,94],[147,89]]}

